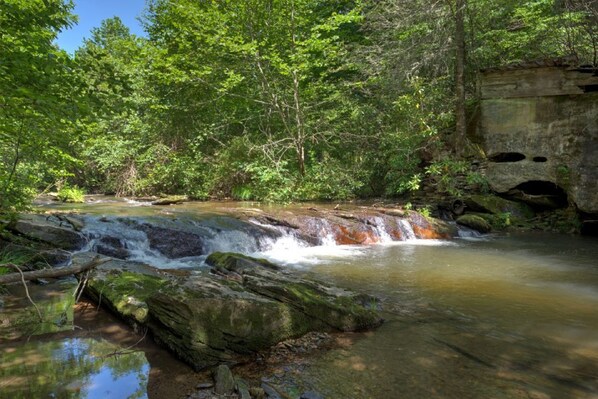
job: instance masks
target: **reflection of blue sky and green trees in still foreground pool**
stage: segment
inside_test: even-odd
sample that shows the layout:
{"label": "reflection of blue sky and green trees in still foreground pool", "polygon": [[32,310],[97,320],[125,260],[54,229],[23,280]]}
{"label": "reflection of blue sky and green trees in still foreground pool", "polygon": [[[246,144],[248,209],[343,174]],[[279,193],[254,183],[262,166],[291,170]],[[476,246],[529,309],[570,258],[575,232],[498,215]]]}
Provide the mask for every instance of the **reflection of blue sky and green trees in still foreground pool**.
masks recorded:
{"label": "reflection of blue sky and green trees in still foreground pool", "polygon": [[147,398],[143,352],[71,338],[0,347],[0,398]]}

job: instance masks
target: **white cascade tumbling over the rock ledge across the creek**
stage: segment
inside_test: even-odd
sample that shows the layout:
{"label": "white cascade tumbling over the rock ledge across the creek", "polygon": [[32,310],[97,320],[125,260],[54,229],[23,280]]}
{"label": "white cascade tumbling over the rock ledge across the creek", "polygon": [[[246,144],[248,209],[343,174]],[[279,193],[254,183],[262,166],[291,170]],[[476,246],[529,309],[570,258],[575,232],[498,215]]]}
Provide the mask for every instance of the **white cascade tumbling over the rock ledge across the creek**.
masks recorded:
{"label": "white cascade tumbling over the rock ledge across the creek", "polygon": [[[301,264],[358,255],[364,244],[388,244],[393,237],[416,239],[409,221],[400,217],[374,214],[342,219],[329,215],[289,220],[293,223],[282,219],[270,224],[267,218],[244,220],[214,214],[85,216],[82,233],[89,243],[83,250],[160,268],[203,266],[213,252],[238,252]],[[395,223],[399,231],[391,235],[390,226]],[[338,245],[338,240],[356,243]]]}

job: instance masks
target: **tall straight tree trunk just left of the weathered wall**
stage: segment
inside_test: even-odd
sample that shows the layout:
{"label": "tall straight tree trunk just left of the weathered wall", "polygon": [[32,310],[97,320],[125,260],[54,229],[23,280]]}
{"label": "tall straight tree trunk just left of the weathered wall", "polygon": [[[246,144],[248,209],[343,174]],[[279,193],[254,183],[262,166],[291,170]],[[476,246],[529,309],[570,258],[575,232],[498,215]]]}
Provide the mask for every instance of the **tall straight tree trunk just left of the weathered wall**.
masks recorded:
{"label": "tall straight tree trunk just left of the weathered wall", "polygon": [[467,134],[467,119],[465,116],[465,7],[466,0],[456,0],[455,11],[455,137],[453,141],[455,154],[462,155]]}

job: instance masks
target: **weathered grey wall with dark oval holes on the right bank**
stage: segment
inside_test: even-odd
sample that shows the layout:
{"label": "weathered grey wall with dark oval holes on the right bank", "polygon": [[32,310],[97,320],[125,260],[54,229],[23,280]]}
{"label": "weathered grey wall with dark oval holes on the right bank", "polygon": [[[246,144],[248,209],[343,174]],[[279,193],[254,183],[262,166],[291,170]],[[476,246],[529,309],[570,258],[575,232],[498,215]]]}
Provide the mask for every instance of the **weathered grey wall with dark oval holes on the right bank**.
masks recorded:
{"label": "weathered grey wall with dark oval holes on the right bank", "polygon": [[482,71],[480,83],[491,188],[598,213],[598,70],[536,64]]}

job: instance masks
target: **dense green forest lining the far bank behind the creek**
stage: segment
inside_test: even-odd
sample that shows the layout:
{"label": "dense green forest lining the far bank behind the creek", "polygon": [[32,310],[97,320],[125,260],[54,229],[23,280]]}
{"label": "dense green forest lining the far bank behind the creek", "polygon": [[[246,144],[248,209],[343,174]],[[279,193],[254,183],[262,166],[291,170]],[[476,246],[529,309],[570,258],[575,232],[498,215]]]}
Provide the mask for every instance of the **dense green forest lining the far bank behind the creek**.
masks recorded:
{"label": "dense green forest lining the far bank behind the creek", "polygon": [[595,0],[148,0],[147,37],[115,17],[70,55],[72,10],[0,0],[1,211],[44,191],[397,196],[483,156],[480,69],[598,64]]}

